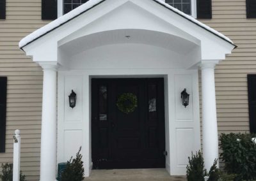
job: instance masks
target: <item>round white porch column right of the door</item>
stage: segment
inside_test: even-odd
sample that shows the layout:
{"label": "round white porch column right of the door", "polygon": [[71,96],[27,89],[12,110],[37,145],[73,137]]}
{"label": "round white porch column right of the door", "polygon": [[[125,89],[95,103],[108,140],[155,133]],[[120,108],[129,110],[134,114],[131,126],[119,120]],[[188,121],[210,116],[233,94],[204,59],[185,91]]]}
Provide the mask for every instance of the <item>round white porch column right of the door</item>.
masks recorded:
{"label": "round white porch column right of the door", "polygon": [[210,170],[218,159],[218,126],[214,68],[218,61],[202,62],[202,133],[205,168]]}

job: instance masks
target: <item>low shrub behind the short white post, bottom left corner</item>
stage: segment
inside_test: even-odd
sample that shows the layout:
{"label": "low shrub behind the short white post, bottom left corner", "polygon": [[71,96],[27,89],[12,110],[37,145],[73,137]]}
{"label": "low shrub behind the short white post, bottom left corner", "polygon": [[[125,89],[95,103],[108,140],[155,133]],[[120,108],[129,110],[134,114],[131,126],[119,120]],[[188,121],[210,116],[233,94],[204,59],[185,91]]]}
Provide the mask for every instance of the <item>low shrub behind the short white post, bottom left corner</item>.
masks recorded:
{"label": "low shrub behind the short white post, bottom left corner", "polygon": [[[12,181],[13,164],[12,163],[2,164],[1,168],[3,173],[3,174],[0,174],[1,180]],[[26,181],[26,176],[22,174],[22,171],[20,171],[20,181]]]}

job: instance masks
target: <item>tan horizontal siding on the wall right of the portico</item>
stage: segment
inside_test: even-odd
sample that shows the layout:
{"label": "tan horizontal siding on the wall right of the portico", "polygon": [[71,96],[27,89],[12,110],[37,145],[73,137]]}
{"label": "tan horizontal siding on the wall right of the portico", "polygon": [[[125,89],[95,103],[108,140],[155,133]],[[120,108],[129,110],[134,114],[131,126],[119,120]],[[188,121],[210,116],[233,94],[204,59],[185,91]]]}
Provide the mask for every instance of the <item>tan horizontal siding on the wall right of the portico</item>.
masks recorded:
{"label": "tan horizontal siding on the wall right of the portico", "polygon": [[245,0],[212,0],[212,20],[201,20],[237,45],[216,66],[219,133],[248,132],[247,74],[256,73],[256,19],[246,18]]}

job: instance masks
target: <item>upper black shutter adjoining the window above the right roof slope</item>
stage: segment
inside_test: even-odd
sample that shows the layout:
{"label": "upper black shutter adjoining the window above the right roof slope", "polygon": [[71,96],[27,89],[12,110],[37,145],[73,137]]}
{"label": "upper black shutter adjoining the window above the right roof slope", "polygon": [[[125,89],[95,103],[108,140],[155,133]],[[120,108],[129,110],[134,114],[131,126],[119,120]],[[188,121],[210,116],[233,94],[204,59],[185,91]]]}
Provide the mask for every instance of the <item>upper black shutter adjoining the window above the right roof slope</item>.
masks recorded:
{"label": "upper black shutter adjoining the window above the right roof slope", "polygon": [[[255,0],[253,0],[255,1]],[[212,18],[212,0],[196,0],[196,16],[201,19]]]}

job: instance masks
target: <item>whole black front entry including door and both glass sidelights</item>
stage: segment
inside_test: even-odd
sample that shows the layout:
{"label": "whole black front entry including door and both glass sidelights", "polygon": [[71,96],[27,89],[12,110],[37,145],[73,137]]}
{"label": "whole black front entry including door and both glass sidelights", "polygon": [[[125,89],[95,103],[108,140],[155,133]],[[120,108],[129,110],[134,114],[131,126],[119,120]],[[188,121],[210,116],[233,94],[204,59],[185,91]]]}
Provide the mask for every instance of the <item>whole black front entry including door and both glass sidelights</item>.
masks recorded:
{"label": "whole black front entry including door and both glass sidelights", "polygon": [[[127,93],[129,113],[116,105]],[[164,136],[163,78],[92,79],[94,169],[164,168]]]}

